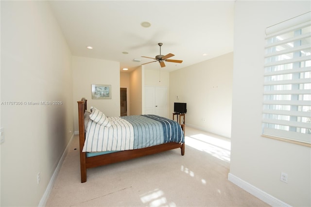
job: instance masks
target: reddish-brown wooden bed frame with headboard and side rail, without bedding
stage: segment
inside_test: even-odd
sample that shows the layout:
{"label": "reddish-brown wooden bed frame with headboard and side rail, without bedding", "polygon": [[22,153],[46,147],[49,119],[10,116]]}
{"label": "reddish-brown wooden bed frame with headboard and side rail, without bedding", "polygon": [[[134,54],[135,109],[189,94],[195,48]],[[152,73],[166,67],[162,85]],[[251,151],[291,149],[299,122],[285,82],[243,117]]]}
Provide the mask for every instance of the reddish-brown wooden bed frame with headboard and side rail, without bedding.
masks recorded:
{"label": "reddish-brown wooden bed frame with headboard and side rail, without bedding", "polygon": [[[139,158],[146,155],[152,155],[155,153],[180,148],[181,155],[185,154],[185,143],[164,143],[156,146],[151,146],[142,149],[125,150],[120,152],[114,152],[105,155],[99,155],[94,157],[86,157],[86,152],[82,152],[84,142],[85,142],[85,125],[84,125],[84,112],[86,111],[85,98],[78,101],[78,111],[79,111],[79,143],[80,143],[80,167],[81,167],[81,182],[86,182],[86,169],[97,167],[101,165],[111,164],[115,162],[120,162],[128,159]],[[185,133],[185,125],[181,125],[182,130]]]}

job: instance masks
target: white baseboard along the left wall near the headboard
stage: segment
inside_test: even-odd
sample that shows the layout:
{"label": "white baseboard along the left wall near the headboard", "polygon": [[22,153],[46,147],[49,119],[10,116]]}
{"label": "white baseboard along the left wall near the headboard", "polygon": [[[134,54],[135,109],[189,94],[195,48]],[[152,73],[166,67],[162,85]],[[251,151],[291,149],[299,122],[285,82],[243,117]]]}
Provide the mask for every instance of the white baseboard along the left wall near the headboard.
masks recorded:
{"label": "white baseboard along the left wall near the headboard", "polygon": [[54,183],[56,181],[56,178],[57,178],[57,175],[58,175],[58,173],[60,171],[60,168],[62,167],[62,164],[63,164],[63,162],[64,162],[64,160],[66,158],[66,155],[67,155],[68,150],[69,150],[69,145],[72,142],[74,135],[75,135],[75,133],[72,134],[72,136],[71,136],[71,138],[69,140],[69,143],[67,144],[67,147],[66,147],[65,151],[63,152],[62,157],[59,159],[59,162],[58,162],[58,164],[56,166],[56,169],[55,169],[55,171],[54,171],[54,173],[53,173],[53,175],[52,175],[52,177],[50,179],[50,182],[49,182],[49,184],[47,186],[47,189],[45,190],[45,192],[44,192],[44,194],[43,194],[43,196],[42,196],[42,198],[41,198],[41,200],[39,202],[38,207],[45,207],[46,206],[46,204],[48,202],[48,199],[49,199],[49,196],[50,196],[50,193],[52,191],[53,185],[54,185]]}

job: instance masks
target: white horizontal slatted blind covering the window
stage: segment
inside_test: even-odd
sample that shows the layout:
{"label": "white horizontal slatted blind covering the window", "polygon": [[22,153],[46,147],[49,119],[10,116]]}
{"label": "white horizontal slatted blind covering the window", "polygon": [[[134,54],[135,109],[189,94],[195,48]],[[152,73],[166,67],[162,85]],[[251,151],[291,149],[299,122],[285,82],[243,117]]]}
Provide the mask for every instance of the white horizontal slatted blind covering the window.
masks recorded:
{"label": "white horizontal slatted blind covering the window", "polygon": [[266,29],[264,136],[311,143],[311,13]]}

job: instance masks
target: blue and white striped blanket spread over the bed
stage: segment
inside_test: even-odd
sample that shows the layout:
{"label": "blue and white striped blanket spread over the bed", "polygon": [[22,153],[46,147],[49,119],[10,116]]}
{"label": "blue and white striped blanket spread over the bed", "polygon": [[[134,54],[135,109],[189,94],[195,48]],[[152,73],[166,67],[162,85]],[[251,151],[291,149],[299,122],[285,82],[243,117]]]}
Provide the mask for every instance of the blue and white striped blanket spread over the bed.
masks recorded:
{"label": "blue and white striped blanket spread over the bed", "polygon": [[108,117],[111,127],[91,119],[86,127],[83,152],[123,151],[162,143],[184,143],[184,133],[173,120],[157,115]]}

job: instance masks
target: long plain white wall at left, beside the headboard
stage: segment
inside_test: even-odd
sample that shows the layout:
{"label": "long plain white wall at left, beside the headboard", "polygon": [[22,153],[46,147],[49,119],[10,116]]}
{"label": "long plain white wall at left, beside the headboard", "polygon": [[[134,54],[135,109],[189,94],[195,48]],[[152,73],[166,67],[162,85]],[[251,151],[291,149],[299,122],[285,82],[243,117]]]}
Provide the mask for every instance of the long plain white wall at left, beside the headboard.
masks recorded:
{"label": "long plain white wall at left, beside the headboard", "polygon": [[0,205],[37,206],[73,135],[71,54],[47,1],[0,3],[1,101],[22,103],[1,104]]}

